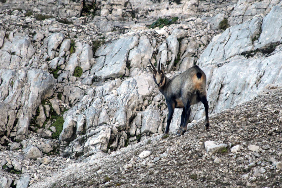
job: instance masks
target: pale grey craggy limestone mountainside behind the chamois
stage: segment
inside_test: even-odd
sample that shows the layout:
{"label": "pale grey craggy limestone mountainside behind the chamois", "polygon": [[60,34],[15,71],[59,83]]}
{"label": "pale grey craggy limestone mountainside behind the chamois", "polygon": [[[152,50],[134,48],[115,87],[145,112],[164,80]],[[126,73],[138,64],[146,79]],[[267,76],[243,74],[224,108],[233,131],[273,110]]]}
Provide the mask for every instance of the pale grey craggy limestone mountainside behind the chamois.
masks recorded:
{"label": "pale grey craggy limestone mountainside behind the chamois", "polygon": [[0,1],[0,185],[158,139],[168,110],[148,59],[169,77],[201,66],[210,114],[279,87],[281,12],[278,0]]}

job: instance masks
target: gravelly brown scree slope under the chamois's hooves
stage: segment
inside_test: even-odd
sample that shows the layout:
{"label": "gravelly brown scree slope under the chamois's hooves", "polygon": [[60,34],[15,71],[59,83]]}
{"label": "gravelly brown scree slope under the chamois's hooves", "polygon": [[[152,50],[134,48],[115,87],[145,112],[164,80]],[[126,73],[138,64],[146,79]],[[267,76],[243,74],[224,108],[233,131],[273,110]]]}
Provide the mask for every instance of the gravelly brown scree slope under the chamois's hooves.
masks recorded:
{"label": "gravelly brown scree slope under the chamois's hooves", "polygon": [[282,89],[101,158],[71,164],[31,187],[281,187]]}

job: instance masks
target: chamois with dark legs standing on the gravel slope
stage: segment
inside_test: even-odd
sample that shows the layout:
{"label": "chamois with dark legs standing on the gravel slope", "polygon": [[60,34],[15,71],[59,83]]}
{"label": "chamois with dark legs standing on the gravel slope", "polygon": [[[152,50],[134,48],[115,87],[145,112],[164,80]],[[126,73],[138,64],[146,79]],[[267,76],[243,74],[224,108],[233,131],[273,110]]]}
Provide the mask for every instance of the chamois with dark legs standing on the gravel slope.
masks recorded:
{"label": "chamois with dark legs standing on the gravel slope", "polygon": [[209,114],[208,101],[206,100],[206,75],[197,66],[190,67],[180,75],[175,76],[171,80],[165,76],[165,66],[159,66],[158,70],[154,67],[151,60],[149,60],[150,72],[159,91],[165,96],[165,101],[169,110],[165,133],[162,138],[168,136],[170,122],[175,108],[183,108],[181,114],[180,127],[177,130],[177,135],[183,135],[187,130],[187,124],[190,117],[190,105],[202,102],[206,111],[205,130],[209,129]]}

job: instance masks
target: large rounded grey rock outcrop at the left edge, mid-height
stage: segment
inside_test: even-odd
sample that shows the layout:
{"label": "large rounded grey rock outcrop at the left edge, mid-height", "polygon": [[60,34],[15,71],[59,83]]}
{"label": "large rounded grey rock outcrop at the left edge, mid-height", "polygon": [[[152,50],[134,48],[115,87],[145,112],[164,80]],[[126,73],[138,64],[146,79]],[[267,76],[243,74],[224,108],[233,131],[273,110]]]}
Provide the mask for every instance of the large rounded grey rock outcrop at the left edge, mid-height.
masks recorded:
{"label": "large rounded grey rock outcrop at the left edge, mid-height", "polygon": [[[42,99],[53,93],[50,88],[53,87],[54,78],[42,70],[0,69],[0,80],[0,129],[8,135],[11,130],[16,130],[17,136],[27,135],[29,121],[36,108]],[[14,124],[16,119],[17,123]]]}

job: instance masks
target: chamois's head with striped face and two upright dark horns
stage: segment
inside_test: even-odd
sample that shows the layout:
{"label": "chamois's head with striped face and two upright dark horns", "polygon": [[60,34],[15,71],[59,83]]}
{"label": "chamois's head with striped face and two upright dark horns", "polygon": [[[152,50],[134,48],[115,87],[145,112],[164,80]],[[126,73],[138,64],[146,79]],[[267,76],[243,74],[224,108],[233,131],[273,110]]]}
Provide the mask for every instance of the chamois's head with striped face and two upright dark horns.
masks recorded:
{"label": "chamois's head with striped face and two upright dark horns", "polygon": [[160,58],[159,58],[159,66],[158,66],[158,71],[157,71],[154,65],[152,64],[151,60],[149,61],[152,66],[152,67],[149,66],[149,70],[153,74],[153,78],[154,78],[156,86],[157,87],[164,86],[165,85],[165,66],[160,63]]}

